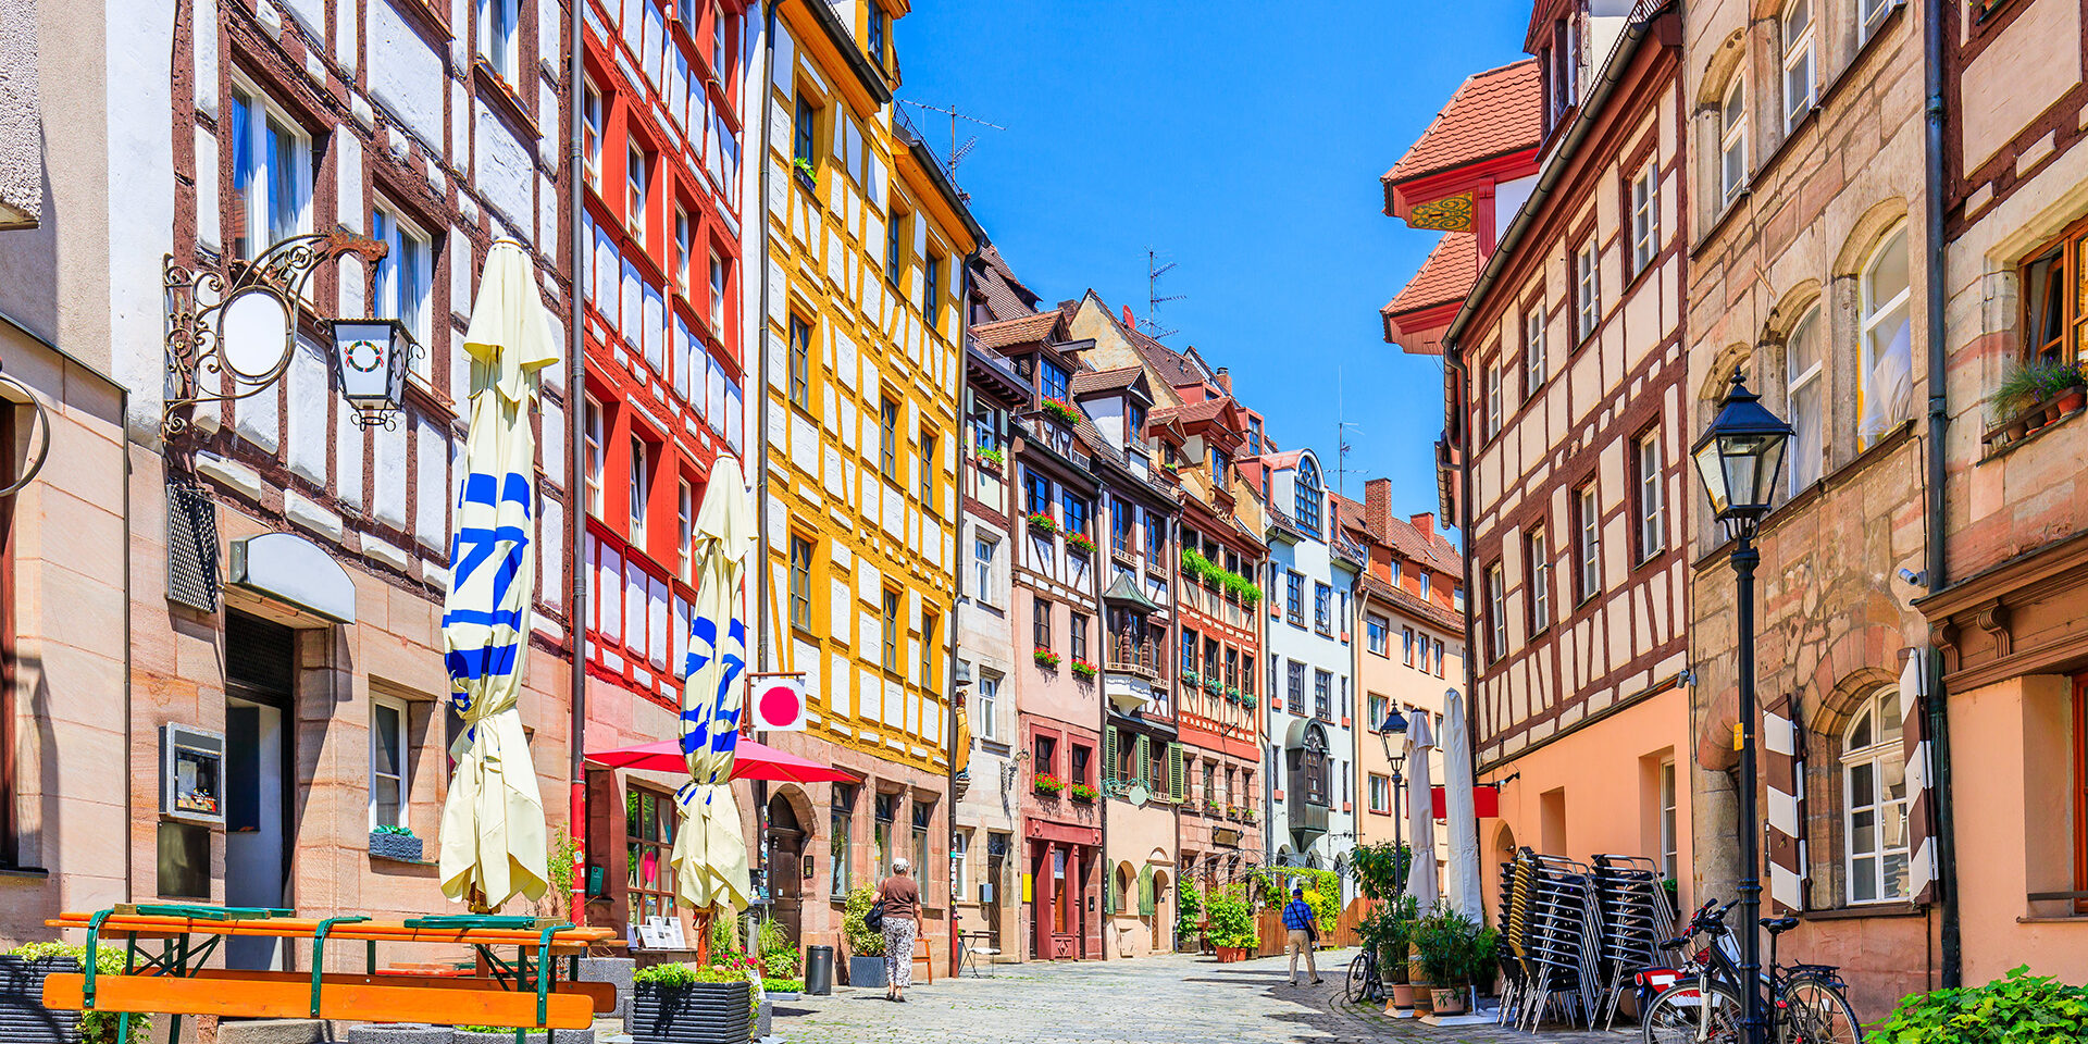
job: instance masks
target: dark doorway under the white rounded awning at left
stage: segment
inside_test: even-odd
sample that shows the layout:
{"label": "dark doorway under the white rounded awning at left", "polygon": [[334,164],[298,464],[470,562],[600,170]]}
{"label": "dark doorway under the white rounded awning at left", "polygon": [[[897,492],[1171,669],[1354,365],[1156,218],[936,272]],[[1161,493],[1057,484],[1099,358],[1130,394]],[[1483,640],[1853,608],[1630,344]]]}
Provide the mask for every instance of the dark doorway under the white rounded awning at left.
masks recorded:
{"label": "dark doorway under the white rounded awning at left", "polygon": [[[226,906],[286,908],[296,633],[226,614]],[[226,967],[284,971],[282,940],[232,935]]]}

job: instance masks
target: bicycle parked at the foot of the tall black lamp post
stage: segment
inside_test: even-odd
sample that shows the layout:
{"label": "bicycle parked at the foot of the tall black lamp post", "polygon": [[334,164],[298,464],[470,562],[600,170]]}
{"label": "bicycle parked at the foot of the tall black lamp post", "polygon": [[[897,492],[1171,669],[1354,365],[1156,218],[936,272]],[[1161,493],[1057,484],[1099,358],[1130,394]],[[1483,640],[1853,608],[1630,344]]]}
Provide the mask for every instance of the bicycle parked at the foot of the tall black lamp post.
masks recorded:
{"label": "bicycle parked at the foot of the tall black lamp post", "polygon": [[[1725,917],[1733,902],[1718,906],[1706,902],[1689,919],[1689,927],[1675,940],[1662,944],[1666,950],[1681,950],[1698,935],[1706,938],[1702,950],[1693,954],[1687,971],[1693,971],[1695,986],[1670,986],[1645,1009],[1641,1017],[1645,1044],[1737,1044],[1746,1021],[1746,1004],[1739,996],[1739,956]],[[1796,917],[1764,917],[1760,925],[1769,929],[1769,1006],[1762,1017],[1769,1021],[1769,1040],[1777,1044],[1858,1044],[1862,1023],[1848,1006],[1842,975],[1833,965],[1783,965],[1777,960],[1777,938],[1798,927]]]}

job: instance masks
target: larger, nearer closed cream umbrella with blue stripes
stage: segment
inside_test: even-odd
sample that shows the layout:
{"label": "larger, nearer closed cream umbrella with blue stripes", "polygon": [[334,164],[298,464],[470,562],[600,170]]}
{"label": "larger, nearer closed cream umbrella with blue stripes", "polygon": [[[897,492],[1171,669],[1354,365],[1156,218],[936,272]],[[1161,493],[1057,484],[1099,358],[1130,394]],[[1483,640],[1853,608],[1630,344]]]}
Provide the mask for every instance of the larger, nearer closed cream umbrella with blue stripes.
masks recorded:
{"label": "larger, nearer closed cream umbrella with blue stripes", "polygon": [[549,877],[543,798],[522,733],[522,670],[537,591],[537,436],[528,409],[557,347],[522,246],[487,255],[472,326],[472,426],[449,543],[443,654],[449,702],[464,716],[457,775],[443,804],[443,894],[474,912],[543,898]]}

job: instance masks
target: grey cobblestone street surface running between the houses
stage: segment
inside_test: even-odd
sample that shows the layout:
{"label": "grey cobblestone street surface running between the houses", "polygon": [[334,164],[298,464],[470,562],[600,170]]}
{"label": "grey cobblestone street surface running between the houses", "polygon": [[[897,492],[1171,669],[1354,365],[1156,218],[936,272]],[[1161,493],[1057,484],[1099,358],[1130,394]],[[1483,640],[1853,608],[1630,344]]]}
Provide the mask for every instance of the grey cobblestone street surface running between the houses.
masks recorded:
{"label": "grey cobblestone street surface running between the houses", "polygon": [[1155,956],[1079,965],[1004,965],[990,979],[917,983],[906,1004],[881,990],[837,988],[833,996],[777,1002],[775,1034],[785,1044],[908,1042],[973,1044],[1627,1044],[1614,1034],[1493,1025],[1439,1029],[1389,1019],[1382,1009],[1338,996],[1355,950],[1320,954],[1322,986],[1292,988],[1282,958],[1217,965],[1207,956]]}

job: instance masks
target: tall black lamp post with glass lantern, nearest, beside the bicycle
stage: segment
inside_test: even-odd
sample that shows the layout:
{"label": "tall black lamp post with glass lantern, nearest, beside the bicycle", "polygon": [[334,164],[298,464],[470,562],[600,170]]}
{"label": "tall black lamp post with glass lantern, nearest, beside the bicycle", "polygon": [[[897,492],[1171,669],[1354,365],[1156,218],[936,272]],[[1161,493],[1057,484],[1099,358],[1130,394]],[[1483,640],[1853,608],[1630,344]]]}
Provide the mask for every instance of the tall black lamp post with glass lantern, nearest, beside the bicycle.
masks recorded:
{"label": "tall black lamp post with glass lantern, nearest, beside the bicycle", "polygon": [[1783,445],[1792,438],[1792,426],[1777,420],[1762,407],[1762,401],[1748,390],[1733,372],[1733,388],[1718,403],[1718,416],[1695,441],[1689,455],[1695,457],[1698,478],[1710,495],[1712,514],[1725,524],[1733,547],[1733,572],[1739,574],[1739,593],[1733,608],[1739,614],[1739,979],[1746,998],[1746,1021],[1741,1023],[1746,1044],[1762,1044],[1762,854],[1760,823],[1754,812],[1754,566],[1762,553],[1754,549],[1754,530],[1769,514],[1769,501],[1777,489],[1777,472],[1783,470]]}

